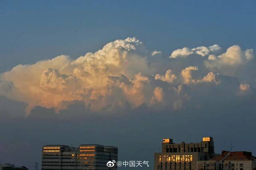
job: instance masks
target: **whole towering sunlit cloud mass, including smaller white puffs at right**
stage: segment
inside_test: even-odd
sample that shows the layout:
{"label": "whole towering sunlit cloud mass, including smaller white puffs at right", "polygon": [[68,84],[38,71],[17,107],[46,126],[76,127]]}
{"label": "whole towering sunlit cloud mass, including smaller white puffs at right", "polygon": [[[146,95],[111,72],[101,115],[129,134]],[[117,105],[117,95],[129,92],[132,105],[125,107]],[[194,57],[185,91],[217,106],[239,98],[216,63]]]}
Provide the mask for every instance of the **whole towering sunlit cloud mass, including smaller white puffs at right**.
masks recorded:
{"label": "whole towering sunlit cloud mass, including smaller white puffs at right", "polygon": [[252,59],[252,49],[243,52],[232,46],[216,57],[214,52],[219,50],[218,45],[212,45],[172,52],[172,58],[212,54],[205,61],[209,69],[206,73],[193,65],[181,71],[170,68],[158,73],[158,68],[150,67],[149,58],[162,55],[161,51],[149,53],[136,38],[116,40],[77,59],[60,55],[31,65],[17,65],[0,75],[0,95],[28,103],[29,113],[37,105],[58,111],[72,101],[83,101],[92,111],[126,102],[132,107],[145,103],[152,108],[180,109],[193,99],[194,92],[198,95],[202,89],[226,88],[236,96],[252,91],[249,85],[235,83],[233,89],[226,87],[225,77],[214,73],[218,65]]}

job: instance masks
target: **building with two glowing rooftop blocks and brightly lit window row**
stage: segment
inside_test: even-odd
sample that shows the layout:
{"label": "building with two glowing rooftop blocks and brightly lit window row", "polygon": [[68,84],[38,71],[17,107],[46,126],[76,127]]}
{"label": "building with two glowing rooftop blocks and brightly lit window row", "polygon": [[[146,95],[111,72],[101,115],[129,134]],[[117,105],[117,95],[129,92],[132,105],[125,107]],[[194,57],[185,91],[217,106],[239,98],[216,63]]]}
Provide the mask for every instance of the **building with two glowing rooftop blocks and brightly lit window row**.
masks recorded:
{"label": "building with two glowing rooftop blocks and brightly lit window row", "polygon": [[154,170],[196,170],[198,160],[214,157],[212,137],[204,137],[200,143],[174,143],[164,138],[162,152],[154,154]]}

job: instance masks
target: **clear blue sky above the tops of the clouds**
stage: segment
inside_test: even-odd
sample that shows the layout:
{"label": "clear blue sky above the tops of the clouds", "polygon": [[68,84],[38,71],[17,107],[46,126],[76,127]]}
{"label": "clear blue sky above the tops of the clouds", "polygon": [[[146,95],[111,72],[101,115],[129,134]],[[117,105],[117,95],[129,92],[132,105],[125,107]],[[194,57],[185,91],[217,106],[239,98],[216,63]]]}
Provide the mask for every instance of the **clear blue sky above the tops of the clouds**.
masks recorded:
{"label": "clear blue sky above the tops of the clouds", "polygon": [[256,46],[255,1],[0,2],[0,72],[57,55],[77,58],[136,37],[164,55],[218,43]]}

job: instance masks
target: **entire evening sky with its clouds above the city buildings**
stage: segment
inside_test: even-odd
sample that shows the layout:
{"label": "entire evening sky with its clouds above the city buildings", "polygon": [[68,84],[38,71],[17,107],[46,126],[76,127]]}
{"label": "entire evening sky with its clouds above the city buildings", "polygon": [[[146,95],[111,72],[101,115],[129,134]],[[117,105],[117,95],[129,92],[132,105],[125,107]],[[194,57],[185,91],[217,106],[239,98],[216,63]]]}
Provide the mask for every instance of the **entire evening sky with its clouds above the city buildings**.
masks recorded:
{"label": "entire evening sky with its clouds above the city buildings", "polygon": [[1,0],[0,159],[32,169],[44,144],[95,143],[153,169],[162,138],[209,135],[256,155],[255,7]]}

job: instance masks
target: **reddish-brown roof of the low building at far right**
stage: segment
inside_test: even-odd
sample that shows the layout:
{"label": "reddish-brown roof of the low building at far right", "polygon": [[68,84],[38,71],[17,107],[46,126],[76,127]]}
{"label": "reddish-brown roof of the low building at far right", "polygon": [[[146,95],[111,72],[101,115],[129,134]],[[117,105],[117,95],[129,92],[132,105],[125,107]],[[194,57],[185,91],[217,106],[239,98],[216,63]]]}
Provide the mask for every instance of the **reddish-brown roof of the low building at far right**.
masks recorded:
{"label": "reddish-brown roof of the low building at far right", "polygon": [[211,160],[256,160],[255,156],[252,156],[252,152],[245,152],[245,151],[237,151],[237,152],[230,152],[226,150],[222,150],[219,156],[212,158]]}

